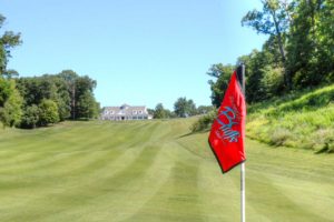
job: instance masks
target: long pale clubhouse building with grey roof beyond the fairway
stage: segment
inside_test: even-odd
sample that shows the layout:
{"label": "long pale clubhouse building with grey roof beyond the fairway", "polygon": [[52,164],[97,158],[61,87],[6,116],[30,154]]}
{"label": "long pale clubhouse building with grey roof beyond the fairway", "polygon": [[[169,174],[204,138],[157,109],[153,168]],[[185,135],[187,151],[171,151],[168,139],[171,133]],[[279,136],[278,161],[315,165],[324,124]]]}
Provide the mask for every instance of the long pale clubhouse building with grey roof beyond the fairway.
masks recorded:
{"label": "long pale clubhouse building with grey roof beyond the fairway", "polygon": [[148,114],[145,105],[131,107],[122,104],[120,107],[105,107],[100,119],[111,121],[150,120],[153,119],[153,115]]}

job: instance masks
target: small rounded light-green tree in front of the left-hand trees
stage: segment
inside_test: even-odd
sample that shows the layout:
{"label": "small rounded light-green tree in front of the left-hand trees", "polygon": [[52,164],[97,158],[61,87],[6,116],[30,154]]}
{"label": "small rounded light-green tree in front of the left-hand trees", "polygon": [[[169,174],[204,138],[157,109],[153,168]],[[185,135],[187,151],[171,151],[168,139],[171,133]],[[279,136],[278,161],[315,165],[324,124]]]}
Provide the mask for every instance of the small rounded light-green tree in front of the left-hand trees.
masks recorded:
{"label": "small rounded light-green tree in front of the left-hand trees", "polygon": [[58,105],[52,100],[43,99],[39,107],[39,125],[46,127],[59,122]]}

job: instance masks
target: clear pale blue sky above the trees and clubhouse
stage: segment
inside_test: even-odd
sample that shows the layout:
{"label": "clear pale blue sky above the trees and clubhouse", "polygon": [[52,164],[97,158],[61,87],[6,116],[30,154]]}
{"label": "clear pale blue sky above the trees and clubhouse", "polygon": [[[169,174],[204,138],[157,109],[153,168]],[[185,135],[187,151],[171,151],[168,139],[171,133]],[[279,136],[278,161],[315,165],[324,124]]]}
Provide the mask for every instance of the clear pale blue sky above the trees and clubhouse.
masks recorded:
{"label": "clear pale blue sky above the trees and clubhouse", "polygon": [[0,0],[0,30],[21,32],[8,68],[20,77],[71,69],[97,81],[101,107],[210,104],[206,72],[266,40],[242,27],[259,0]]}

